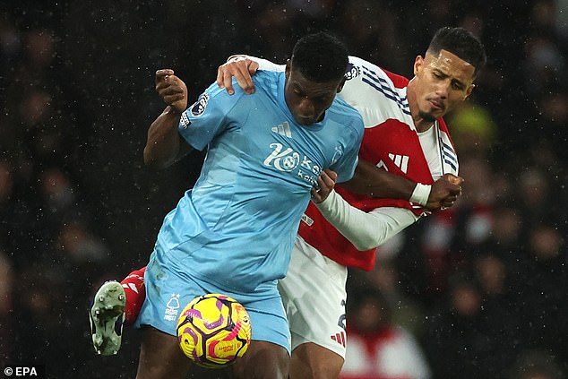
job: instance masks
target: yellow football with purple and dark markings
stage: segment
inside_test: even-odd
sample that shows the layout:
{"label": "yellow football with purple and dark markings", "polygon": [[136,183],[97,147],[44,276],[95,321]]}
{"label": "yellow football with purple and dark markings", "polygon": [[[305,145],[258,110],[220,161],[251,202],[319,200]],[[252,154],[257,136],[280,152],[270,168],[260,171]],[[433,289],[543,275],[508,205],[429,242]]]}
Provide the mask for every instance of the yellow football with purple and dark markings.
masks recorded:
{"label": "yellow football with purple and dark markings", "polygon": [[251,343],[251,320],[245,307],[226,295],[194,298],[177,320],[179,346],[195,364],[228,366],[245,354]]}

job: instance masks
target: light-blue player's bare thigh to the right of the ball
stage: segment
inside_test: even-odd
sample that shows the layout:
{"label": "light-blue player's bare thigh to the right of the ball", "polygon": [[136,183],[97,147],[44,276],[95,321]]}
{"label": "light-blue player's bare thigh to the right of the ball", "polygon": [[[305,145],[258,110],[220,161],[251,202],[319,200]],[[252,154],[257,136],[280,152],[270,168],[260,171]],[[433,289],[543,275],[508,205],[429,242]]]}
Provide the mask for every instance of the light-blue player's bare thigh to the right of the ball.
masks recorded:
{"label": "light-blue player's bare thigh to the right of the ball", "polygon": [[237,379],[288,379],[288,350],[275,343],[252,340],[243,357],[231,366]]}

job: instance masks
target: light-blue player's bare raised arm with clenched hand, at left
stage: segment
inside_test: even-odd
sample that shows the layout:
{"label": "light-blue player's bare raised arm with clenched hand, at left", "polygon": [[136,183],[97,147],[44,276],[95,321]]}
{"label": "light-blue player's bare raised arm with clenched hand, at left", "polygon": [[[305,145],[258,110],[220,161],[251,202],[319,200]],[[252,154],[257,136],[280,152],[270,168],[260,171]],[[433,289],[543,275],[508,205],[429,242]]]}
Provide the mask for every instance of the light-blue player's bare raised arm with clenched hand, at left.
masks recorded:
{"label": "light-blue player's bare raised arm with clenched hand, at left", "polygon": [[156,91],[168,107],[150,125],[144,147],[144,163],[166,168],[185,154],[186,148],[177,133],[182,112],[187,108],[187,87],[173,70],[158,70],[155,76]]}

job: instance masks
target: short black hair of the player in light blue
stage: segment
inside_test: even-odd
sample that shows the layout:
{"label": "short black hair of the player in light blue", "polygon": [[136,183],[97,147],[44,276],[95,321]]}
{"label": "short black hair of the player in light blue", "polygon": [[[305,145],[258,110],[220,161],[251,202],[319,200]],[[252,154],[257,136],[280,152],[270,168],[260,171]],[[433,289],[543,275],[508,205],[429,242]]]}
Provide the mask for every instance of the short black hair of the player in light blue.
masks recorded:
{"label": "short black hair of the player in light blue", "polygon": [[346,45],[326,31],[306,35],[292,50],[292,68],[312,82],[340,81],[348,64]]}

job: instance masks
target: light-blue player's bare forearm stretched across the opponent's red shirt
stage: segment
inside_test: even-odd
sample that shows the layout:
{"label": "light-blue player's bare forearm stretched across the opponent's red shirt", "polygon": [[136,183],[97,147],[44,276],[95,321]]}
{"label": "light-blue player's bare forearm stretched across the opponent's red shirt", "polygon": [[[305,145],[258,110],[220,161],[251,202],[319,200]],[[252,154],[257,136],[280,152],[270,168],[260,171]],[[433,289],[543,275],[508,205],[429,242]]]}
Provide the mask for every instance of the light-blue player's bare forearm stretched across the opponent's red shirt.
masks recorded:
{"label": "light-blue player's bare forearm stretched across the opponent's red shirt", "polygon": [[339,185],[354,194],[408,200],[416,183],[359,160],[353,178]]}

